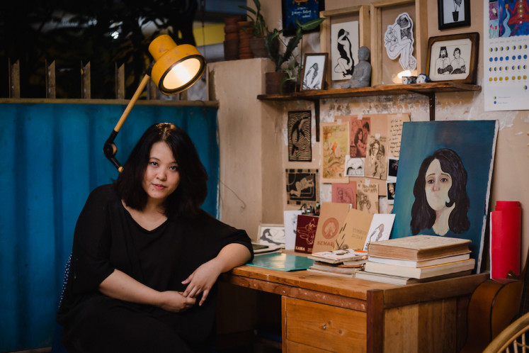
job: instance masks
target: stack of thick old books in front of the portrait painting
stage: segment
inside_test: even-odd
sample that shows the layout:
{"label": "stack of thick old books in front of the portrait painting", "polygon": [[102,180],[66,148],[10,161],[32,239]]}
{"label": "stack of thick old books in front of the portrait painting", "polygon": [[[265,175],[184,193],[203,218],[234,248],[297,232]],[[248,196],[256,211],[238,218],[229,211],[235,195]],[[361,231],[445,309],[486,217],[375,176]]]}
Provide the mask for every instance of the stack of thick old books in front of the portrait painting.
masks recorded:
{"label": "stack of thick old books in front of the portrait painting", "polygon": [[470,240],[436,235],[414,235],[368,247],[368,261],[356,278],[389,284],[411,284],[472,273]]}

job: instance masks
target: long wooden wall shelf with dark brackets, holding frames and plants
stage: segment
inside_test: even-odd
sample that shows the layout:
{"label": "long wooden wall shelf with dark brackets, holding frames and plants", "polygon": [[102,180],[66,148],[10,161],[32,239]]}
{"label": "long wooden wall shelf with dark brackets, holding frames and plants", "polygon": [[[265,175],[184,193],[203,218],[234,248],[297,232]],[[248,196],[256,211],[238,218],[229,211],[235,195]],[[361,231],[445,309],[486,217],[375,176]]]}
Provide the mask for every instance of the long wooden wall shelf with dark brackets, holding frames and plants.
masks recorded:
{"label": "long wooden wall shelf with dark brackets, holding frames and plants", "polygon": [[355,89],[318,89],[314,91],[292,92],[290,94],[259,94],[261,101],[313,101],[316,113],[316,135],[319,141],[319,100],[334,98],[351,98],[365,96],[394,96],[397,94],[421,94],[428,96],[430,121],[436,120],[436,93],[445,92],[479,92],[482,87],[476,84],[460,82],[428,82],[426,84],[383,84]]}

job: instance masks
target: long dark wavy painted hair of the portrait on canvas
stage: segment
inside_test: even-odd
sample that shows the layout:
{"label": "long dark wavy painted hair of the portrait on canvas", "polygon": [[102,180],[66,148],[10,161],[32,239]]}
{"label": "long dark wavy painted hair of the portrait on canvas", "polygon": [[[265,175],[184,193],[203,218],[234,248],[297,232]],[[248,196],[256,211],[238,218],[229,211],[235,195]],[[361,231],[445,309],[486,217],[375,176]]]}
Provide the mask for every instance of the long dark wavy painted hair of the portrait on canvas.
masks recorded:
{"label": "long dark wavy painted hair of the portrait on canvas", "polygon": [[454,150],[441,148],[423,160],[417,179],[415,179],[415,202],[411,206],[411,233],[419,234],[423,229],[432,228],[433,223],[436,222],[436,212],[428,205],[424,190],[426,170],[434,159],[438,159],[443,172],[452,177],[452,186],[448,191],[449,201],[446,203],[446,207],[452,207],[455,203],[455,208],[448,218],[448,227],[456,234],[466,232],[470,228],[470,220],[467,217],[470,208],[470,200],[467,195],[467,170]]}

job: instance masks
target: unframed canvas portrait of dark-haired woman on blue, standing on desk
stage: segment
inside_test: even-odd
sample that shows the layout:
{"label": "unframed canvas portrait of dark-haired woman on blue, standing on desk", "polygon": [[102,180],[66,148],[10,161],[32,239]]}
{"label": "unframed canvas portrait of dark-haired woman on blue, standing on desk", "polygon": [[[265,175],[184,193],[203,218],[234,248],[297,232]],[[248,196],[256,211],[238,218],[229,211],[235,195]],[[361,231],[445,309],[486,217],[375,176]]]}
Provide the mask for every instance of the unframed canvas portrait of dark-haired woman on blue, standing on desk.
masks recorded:
{"label": "unframed canvas portrait of dark-haired woman on blue, standing on desk", "polygon": [[469,239],[479,271],[497,133],[497,121],[404,123],[391,237]]}

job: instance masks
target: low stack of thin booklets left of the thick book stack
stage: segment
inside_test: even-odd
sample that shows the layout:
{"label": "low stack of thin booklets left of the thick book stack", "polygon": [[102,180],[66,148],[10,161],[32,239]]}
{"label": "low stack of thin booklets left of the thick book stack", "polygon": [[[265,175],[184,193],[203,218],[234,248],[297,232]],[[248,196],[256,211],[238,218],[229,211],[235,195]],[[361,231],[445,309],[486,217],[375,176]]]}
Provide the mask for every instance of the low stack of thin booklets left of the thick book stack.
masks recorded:
{"label": "low stack of thin booklets left of the thick book stack", "polygon": [[307,270],[337,276],[354,277],[368,261],[368,252],[362,250],[331,250],[313,252],[308,256],[315,260]]}

